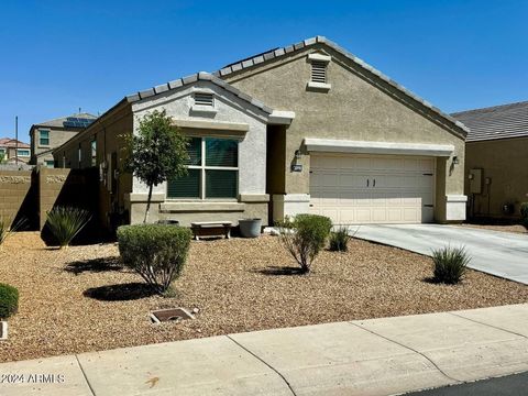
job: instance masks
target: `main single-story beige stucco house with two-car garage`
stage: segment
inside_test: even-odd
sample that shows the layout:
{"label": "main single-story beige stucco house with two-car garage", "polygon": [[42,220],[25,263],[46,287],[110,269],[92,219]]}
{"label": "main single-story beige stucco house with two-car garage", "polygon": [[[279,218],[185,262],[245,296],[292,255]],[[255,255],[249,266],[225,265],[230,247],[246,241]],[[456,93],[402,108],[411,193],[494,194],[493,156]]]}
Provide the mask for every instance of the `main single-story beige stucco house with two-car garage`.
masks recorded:
{"label": "main single-story beige stucco house with two-car garage", "polygon": [[318,36],[125,97],[53,151],[98,166],[101,219],[143,219],[146,188],[122,175],[122,135],[165,109],[191,140],[186,178],[154,188],[151,221],[312,212],[334,223],[465,219],[466,128]]}

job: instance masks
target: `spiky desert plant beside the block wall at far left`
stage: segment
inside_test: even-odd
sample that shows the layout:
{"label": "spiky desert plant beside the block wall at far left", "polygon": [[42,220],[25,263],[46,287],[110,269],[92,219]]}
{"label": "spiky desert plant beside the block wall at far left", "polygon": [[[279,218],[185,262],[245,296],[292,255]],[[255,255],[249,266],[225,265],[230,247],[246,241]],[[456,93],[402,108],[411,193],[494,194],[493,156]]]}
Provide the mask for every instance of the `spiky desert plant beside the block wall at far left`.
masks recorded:
{"label": "spiky desert plant beside the block wall at far left", "polygon": [[69,245],[90,219],[87,210],[57,206],[47,212],[46,224],[61,248],[64,248]]}

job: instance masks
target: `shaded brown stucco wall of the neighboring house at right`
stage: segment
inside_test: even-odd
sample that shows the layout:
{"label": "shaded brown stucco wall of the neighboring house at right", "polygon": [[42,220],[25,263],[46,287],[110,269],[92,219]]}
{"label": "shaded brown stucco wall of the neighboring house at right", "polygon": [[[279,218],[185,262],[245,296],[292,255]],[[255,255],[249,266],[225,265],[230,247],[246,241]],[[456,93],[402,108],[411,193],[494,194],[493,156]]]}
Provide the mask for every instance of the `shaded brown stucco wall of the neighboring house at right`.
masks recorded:
{"label": "shaded brown stucco wall of the neighboring house at right", "polygon": [[[469,183],[465,188],[474,199],[473,213],[506,217],[502,207],[512,202],[514,216],[519,216],[519,204],[528,201],[528,138],[470,142],[465,151],[466,178],[470,169],[483,169],[482,194],[472,196]],[[490,185],[484,184],[486,177],[491,178]]]}

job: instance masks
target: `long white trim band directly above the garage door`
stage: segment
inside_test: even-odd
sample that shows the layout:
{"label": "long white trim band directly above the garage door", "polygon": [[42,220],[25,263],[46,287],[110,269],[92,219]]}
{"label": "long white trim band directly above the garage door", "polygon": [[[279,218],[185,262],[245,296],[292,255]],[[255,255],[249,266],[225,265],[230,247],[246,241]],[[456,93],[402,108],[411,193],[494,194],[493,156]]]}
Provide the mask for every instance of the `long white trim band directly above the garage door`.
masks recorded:
{"label": "long white trim band directly above the garage door", "polygon": [[393,154],[449,157],[454,152],[451,144],[364,142],[332,139],[306,138],[307,152],[351,153],[351,154]]}

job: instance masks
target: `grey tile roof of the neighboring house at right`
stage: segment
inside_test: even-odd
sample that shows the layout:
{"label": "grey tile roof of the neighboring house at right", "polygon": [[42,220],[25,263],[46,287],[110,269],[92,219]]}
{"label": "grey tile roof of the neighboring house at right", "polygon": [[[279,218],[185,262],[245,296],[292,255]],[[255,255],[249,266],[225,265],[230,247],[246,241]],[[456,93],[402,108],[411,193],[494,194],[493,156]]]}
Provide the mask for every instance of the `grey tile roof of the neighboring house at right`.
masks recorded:
{"label": "grey tile roof of the neighboring house at right", "polygon": [[451,114],[470,128],[468,142],[528,136],[528,101]]}

